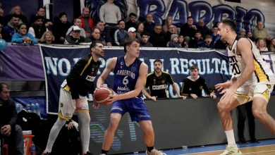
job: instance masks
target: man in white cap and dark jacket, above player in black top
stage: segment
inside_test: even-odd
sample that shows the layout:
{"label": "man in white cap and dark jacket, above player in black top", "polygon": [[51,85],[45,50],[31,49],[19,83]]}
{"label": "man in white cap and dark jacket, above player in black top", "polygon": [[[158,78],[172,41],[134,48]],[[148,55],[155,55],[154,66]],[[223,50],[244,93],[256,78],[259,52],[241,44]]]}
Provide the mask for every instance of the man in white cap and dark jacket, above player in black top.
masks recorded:
{"label": "man in white cap and dark jacket, above player in black top", "polygon": [[88,42],[85,37],[80,35],[81,29],[78,26],[74,26],[71,35],[66,35],[64,44],[80,44]]}

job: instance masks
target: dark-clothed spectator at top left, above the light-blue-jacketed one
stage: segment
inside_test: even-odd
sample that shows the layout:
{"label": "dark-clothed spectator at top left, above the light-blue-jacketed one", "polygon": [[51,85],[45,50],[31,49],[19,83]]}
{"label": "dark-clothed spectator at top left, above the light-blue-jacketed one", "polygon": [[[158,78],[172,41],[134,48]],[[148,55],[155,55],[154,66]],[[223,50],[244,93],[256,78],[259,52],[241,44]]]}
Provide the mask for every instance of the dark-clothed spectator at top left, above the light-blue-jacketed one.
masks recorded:
{"label": "dark-clothed spectator at top left, above the light-blue-jacketed one", "polygon": [[18,16],[18,18],[19,18],[18,24],[25,23],[25,24],[27,24],[27,26],[29,26],[29,22],[27,20],[27,17],[23,14],[21,6],[13,6],[13,8],[11,8],[10,13],[8,15],[4,16],[3,24],[6,25],[8,23],[8,21],[11,20],[13,15]]}

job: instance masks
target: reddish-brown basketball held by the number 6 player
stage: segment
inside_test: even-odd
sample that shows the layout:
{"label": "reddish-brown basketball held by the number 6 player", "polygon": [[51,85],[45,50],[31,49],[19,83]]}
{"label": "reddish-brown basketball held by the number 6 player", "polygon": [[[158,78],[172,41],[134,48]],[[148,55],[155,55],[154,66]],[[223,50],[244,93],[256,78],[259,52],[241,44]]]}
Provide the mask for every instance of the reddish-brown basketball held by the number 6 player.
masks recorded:
{"label": "reddish-brown basketball held by the number 6 player", "polygon": [[110,101],[108,99],[110,98],[110,94],[113,94],[113,91],[108,87],[99,87],[94,92],[94,101],[101,105],[109,104]]}

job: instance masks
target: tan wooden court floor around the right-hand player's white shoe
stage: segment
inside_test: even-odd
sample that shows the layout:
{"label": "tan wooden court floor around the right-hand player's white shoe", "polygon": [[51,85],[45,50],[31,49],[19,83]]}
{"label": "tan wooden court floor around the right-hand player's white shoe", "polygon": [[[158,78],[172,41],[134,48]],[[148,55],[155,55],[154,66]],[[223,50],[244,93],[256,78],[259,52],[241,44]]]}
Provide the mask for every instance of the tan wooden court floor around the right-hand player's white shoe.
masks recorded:
{"label": "tan wooden court floor around the right-hand player's white shoe", "polygon": [[[275,155],[275,144],[264,145],[258,147],[245,147],[240,148],[240,151],[245,155]],[[200,152],[195,154],[188,155],[216,155],[221,154],[222,151],[209,151],[209,152]],[[187,155],[187,154],[186,154]]]}

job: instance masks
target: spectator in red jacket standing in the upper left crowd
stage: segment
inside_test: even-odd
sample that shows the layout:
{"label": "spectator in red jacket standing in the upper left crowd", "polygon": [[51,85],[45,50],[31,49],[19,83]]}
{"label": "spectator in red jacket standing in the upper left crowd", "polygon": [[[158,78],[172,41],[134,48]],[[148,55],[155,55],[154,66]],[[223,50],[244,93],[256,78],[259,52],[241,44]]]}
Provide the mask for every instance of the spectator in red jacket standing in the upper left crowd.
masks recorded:
{"label": "spectator in red jacket standing in the upper left crowd", "polygon": [[81,16],[78,17],[82,21],[81,27],[85,30],[86,37],[90,37],[94,21],[90,17],[90,10],[87,7],[82,8]]}

